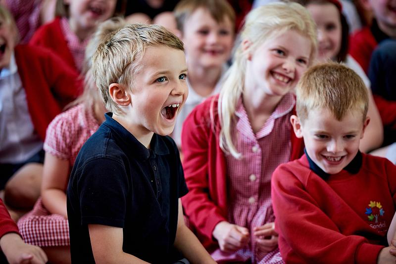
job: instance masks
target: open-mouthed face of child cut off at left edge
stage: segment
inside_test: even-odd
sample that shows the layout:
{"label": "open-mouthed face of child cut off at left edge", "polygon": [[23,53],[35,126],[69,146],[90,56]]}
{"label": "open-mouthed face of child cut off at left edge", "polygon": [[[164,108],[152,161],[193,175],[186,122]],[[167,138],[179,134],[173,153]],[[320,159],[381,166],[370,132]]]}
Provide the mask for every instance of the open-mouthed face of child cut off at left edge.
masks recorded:
{"label": "open-mouthed face of child cut off at left edge", "polygon": [[15,29],[0,17],[0,71],[2,68],[8,67],[15,44]]}

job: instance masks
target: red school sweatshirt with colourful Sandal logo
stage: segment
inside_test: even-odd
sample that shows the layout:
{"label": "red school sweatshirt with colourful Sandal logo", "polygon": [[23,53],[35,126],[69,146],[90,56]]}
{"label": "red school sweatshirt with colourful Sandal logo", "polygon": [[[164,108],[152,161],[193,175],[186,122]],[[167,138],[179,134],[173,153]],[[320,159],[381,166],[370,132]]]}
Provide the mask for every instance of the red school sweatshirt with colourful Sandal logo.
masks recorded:
{"label": "red school sweatshirt with colourful Sandal logo", "polygon": [[343,170],[327,180],[309,169],[305,155],[279,166],[271,194],[283,260],[377,263],[395,214],[395,176],[390,161],[366,154],[357,174]]}

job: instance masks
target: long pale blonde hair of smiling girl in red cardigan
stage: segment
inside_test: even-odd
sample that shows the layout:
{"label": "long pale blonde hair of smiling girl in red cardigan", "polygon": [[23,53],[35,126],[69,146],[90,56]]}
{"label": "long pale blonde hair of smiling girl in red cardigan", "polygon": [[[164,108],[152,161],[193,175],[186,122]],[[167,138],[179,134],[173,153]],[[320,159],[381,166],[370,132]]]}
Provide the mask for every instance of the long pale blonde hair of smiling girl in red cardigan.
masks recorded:
{"label": "long pale blonde hair of smiling girl in red cardigan", "polygon": [[257,7],[247,14],[241,39],[249,40],[251,45],[245,51],[241,44],[236,48],[234,62],[224,77],[218,102],[221,125],[220,147],[235,158],[239,158],[241,154],[232,142],[231,126],[235,118],[236,105],[241,98],[245,84],[246,54],[289,30],[297,31],[311,42],[308,61],[308,65],[310,65],[315,58],[317,49],[316,27],[311,15],[303,6],[298,3],[278,2]]}

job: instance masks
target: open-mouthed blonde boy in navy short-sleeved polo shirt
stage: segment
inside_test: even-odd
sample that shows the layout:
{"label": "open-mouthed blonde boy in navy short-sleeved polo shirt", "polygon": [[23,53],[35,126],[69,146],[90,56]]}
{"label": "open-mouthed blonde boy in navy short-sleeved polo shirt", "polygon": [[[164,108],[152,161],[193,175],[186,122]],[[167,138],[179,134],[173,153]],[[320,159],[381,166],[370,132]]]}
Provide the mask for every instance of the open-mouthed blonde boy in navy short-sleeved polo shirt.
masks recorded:
{"label": "open-mouthed blonde boy in navy short-sleeved polo shirt", "polygon": [[213,260],[186,227],[188,190],[171,133],[188,91],[183,43],[134,24],[99,44],[92,70],[107,109],[67,188],[72,262]]}

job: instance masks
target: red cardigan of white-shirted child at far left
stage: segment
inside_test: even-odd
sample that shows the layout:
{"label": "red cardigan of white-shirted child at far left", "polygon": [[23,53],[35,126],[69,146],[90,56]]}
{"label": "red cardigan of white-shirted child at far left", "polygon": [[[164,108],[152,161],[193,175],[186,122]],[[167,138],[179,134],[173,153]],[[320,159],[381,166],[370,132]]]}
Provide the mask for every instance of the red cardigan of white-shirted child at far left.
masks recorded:
{"label": "red cardigan of white-shirted child at far left", "polygon": [[77,73],[42,47],[17,45],[15,60],[30,117],[41,139],[52,119],[81,91]]}

